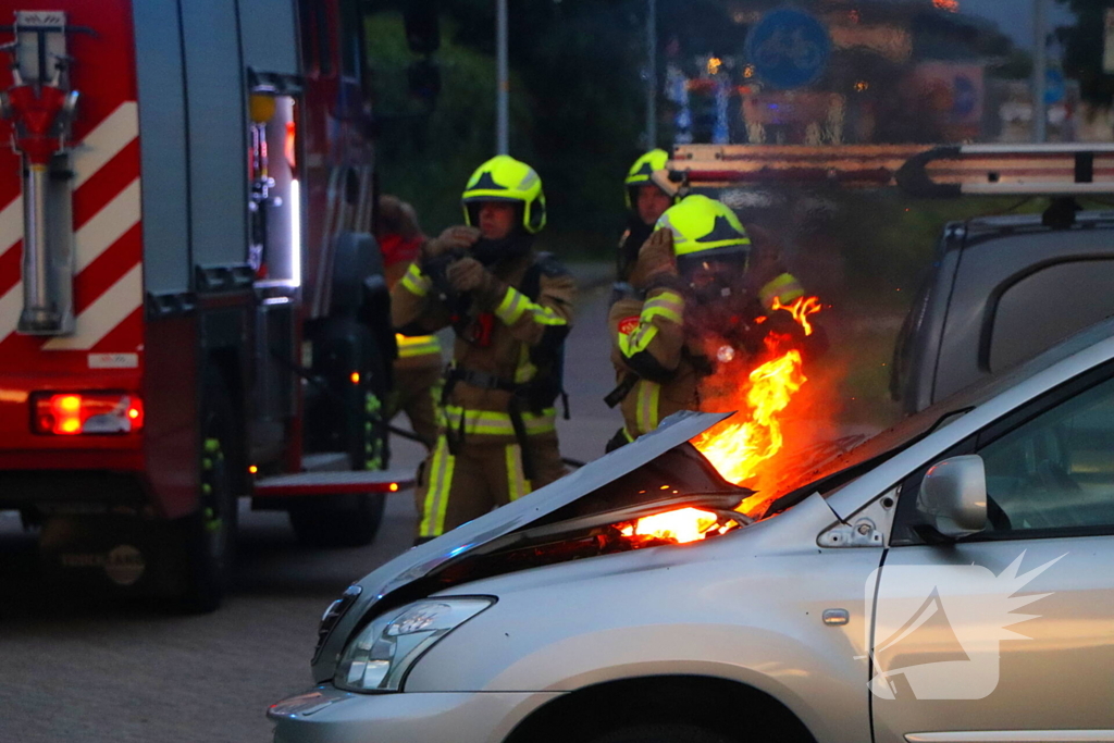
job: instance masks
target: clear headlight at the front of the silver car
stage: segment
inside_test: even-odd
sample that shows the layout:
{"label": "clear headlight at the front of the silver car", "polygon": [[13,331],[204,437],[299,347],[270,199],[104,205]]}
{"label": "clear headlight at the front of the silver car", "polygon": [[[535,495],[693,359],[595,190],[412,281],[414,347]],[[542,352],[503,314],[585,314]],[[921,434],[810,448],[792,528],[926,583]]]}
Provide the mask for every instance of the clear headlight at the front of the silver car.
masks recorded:
{"label": "clear headlight at the front of the silver car", "polygon": [[430,598],[375,617],[349,641],[333,684],[348,692],[397,692],[410,666],[494,598]]}

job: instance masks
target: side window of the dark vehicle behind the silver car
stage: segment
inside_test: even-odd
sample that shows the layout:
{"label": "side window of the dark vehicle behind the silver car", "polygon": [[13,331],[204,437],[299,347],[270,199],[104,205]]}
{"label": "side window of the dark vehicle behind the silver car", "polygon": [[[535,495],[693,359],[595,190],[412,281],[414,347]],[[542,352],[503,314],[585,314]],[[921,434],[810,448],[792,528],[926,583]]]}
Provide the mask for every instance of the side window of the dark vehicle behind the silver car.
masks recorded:
{"label": "side window of the dark vehicle behind the silver car", "polygon": [[1114,261],[1072,261],[1042,268],[1007,289],[998,301],[990,371],[1008,369],[1111,314]]}

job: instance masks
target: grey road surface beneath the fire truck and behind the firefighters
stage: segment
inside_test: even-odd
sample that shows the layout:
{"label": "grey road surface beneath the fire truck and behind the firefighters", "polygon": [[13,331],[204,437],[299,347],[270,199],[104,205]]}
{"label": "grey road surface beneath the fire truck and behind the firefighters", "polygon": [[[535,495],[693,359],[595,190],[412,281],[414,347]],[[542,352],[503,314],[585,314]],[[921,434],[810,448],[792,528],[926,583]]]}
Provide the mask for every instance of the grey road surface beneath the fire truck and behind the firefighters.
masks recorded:
{"label": "grey road surface beneath the fire truck and behind the firefighters", "polygon": [[[619,426],[602,402],[613,380],[606,292],[585,292],[567,351],[573,418],[559,430],[565,456],[582,460],[602,453]],[[395,444],[395,463],[419,458]],[[411,493],[399,493],[373,545],[309,550],[284,515],[245,510],[231,597],[215,614],[180,616],[43,585],[33,536],[0,514],[0,742],[270,741],[267,705],[312,683],[322,610],[409,547],[413,526]]]}

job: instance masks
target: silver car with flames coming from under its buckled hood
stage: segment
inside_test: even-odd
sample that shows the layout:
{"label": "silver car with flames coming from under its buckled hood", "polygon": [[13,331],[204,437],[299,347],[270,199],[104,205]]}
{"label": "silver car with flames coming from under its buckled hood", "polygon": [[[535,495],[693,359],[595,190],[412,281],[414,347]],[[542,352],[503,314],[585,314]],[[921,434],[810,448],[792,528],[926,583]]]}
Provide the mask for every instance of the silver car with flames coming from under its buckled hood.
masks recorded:
{"label": "silver car with flames coming from under its buckled hood", "polygon": [[[1114,741],[1114,322],[818,462],[753,522],[686,443],[721,418],[350,587],[275,740]],[[637,538],[686,508],[703,538]]]}

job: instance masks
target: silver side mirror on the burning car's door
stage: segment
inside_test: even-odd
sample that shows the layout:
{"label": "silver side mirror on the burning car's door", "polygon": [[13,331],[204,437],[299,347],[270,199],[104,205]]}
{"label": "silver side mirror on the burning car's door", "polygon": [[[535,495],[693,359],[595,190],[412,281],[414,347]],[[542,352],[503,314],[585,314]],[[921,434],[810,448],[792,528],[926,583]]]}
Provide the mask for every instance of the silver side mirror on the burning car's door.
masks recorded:
{"label": "silver side mirror on the burning car's door", "polygon": [[986,466],[978,454],[934,465],[920,483],[917,510],[945,537],[957,539],[986,528]]}

